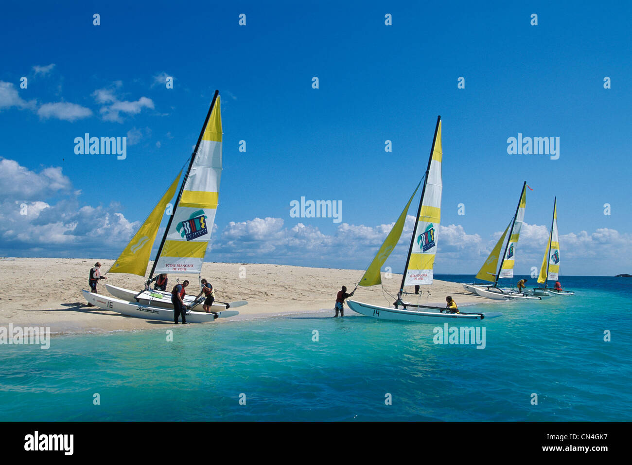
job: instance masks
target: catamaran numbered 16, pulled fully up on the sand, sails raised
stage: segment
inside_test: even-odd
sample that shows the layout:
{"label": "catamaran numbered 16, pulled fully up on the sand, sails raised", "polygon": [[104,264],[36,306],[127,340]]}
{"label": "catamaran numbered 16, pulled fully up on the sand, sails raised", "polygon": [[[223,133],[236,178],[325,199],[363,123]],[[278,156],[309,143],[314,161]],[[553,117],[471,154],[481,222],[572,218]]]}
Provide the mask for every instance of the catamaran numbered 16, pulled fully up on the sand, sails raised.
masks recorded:
{"label": "catamaran numbered 16, pulled fully up on the sand, sails raised", "polygon": [[[197,144],[191,154],[188,169],[174,202],[173,212],[169,216],[149,278],[159,273],[192,275],[202,272],[202,264],[217,210],[221,171],[222,120],[219,91],[216,90]],[[162,214],[166,211],[167,203],[174,197],[180,174],[162,195],[160,201],[107,273],[145,276]],[[154,316],[154,319],[173,319],[170,292],[151,290],[147,285],[140,292],[110,284],[106,284],[106,289],[118,299],[104,295],[98,295],[97,298],[95,297],[96,294],[90,292],[84,292],[84,295],[86,295],[88,302],[93,305],[118,313],[131,314],[141,318]],[[197,292],[193,294],[197,294]],[[192,295],[185,295],[185,306],[189,306],[191,309],[200,306],[202,301],[194,299]],[[211,311],[219,314],[229,307],[238,307],[247,303],[246,301],[231,303],[215,301]],[[147,310],[148,308],[149,310]],[[201,314],[199,318],[195,313]],[[224,312],[222,316],[233,316],[237,313],[227,314]],[[212,321],[217,318],[214,317],[213,313],[191,311],[191,314],[193,316],[188,316],[187,319],[193,322],[198,320]]]}

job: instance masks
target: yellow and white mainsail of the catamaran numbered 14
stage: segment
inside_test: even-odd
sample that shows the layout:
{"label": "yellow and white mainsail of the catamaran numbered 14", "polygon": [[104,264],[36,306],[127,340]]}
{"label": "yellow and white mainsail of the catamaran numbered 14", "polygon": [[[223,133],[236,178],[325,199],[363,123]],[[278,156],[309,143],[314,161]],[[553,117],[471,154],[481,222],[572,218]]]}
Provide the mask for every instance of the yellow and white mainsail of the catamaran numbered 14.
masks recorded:
{"label": "yellow and white mainsail of the catamaran numbered 14", "polygon": [[439,239],[441,220],[441,118],[437,118],[437,128],[432,154],[426,172],[419,216],[413,229],[410,259],[404,270],[403,286],[431,284],[434,258]]}

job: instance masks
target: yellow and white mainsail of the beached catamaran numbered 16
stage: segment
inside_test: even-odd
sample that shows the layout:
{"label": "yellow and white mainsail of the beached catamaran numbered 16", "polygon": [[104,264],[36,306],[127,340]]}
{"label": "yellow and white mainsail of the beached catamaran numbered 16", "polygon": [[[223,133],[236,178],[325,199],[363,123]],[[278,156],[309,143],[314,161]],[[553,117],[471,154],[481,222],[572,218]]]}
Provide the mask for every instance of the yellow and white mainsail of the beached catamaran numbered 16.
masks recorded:
{"label": "yellow and white mainsail of the beached catamaran numbered 16", "polygon": [[203,128],[197,151],[157,257],[155,273],[200,273],[213,230],[222,172],[219,95]]}

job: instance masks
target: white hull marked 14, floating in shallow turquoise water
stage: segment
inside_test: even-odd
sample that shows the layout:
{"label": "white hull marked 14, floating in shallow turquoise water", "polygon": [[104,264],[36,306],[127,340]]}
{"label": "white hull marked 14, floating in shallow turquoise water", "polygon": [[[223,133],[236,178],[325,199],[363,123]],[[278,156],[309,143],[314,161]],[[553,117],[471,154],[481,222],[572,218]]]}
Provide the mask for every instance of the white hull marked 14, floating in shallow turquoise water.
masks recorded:
{"label": "white hull marked 14, floating in shallow turquoise water", "polygon": [[[445,321],[468,320],[480,321],[487,318],[501,316],[499,312],[489,313],[439,313],[439,307],[424,307],[423,311],[404,310],[377,305],[365,304],[363,302],[347,301],[349,308],[356,313],[371,316],[378,319],[391,319],[399,321],[414,321],[415,323],[441,323]],[[433,310],[434,308],[434,310]]]}

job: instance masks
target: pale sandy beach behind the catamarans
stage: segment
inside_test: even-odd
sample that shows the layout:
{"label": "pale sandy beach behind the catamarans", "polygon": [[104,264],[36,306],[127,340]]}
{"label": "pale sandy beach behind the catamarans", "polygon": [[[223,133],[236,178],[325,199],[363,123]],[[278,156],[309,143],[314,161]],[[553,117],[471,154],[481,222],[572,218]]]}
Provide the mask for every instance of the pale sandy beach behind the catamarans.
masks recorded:
{"label": "pale sandy beach behind the catamarans", "polygon": [[[116,330],[155,329],[164,322],[148,321],[122,316],[88,307],[82,289],[88,288],[88,271],[97,259],[63,258],[2,258],[0,276],[3,292],[0,294],[0,326],[8,323],[25,326],[50,326],[51,333],[90,333]],[[102,260],[102,273],[114,262]],[[151,266],[151,263],[150,263]],[[342,285],[353,290],[362,277],[360,270],[335,268],[304,268],[276,264],[205,263],[202,277],[207,278],[216,289],[218,301],[248,301],[239,308],[240,314],[233,318],[219,319],[216,323],[226,324],[253,318],[331,311],[336,292]],[[109,274],[99,284],[99,293],[106,294],[102,283],[138,289],[143,287],[140,276]],[[198,276],[170,275],[169,290],[176,283],[188,279],[190,293],[197,294]],[[384,275],[383,275],[384,278]],[[401,275],[384,279],[384,288],[396,295]],[[428,290],[430,295],[427,295]],[[483,299],[465,292],[458,283],[434,280],[430,286],[422,287],[423,296],[408,296],[411,302],[444,306],[446,295],[452,295],[460,307],[481,302],[497,302]],[[394,299],[384,294],[382,287],[358,288],[354,299],[371,304],[391,306]],[[346,316],[356,313],[345,307]]]}

